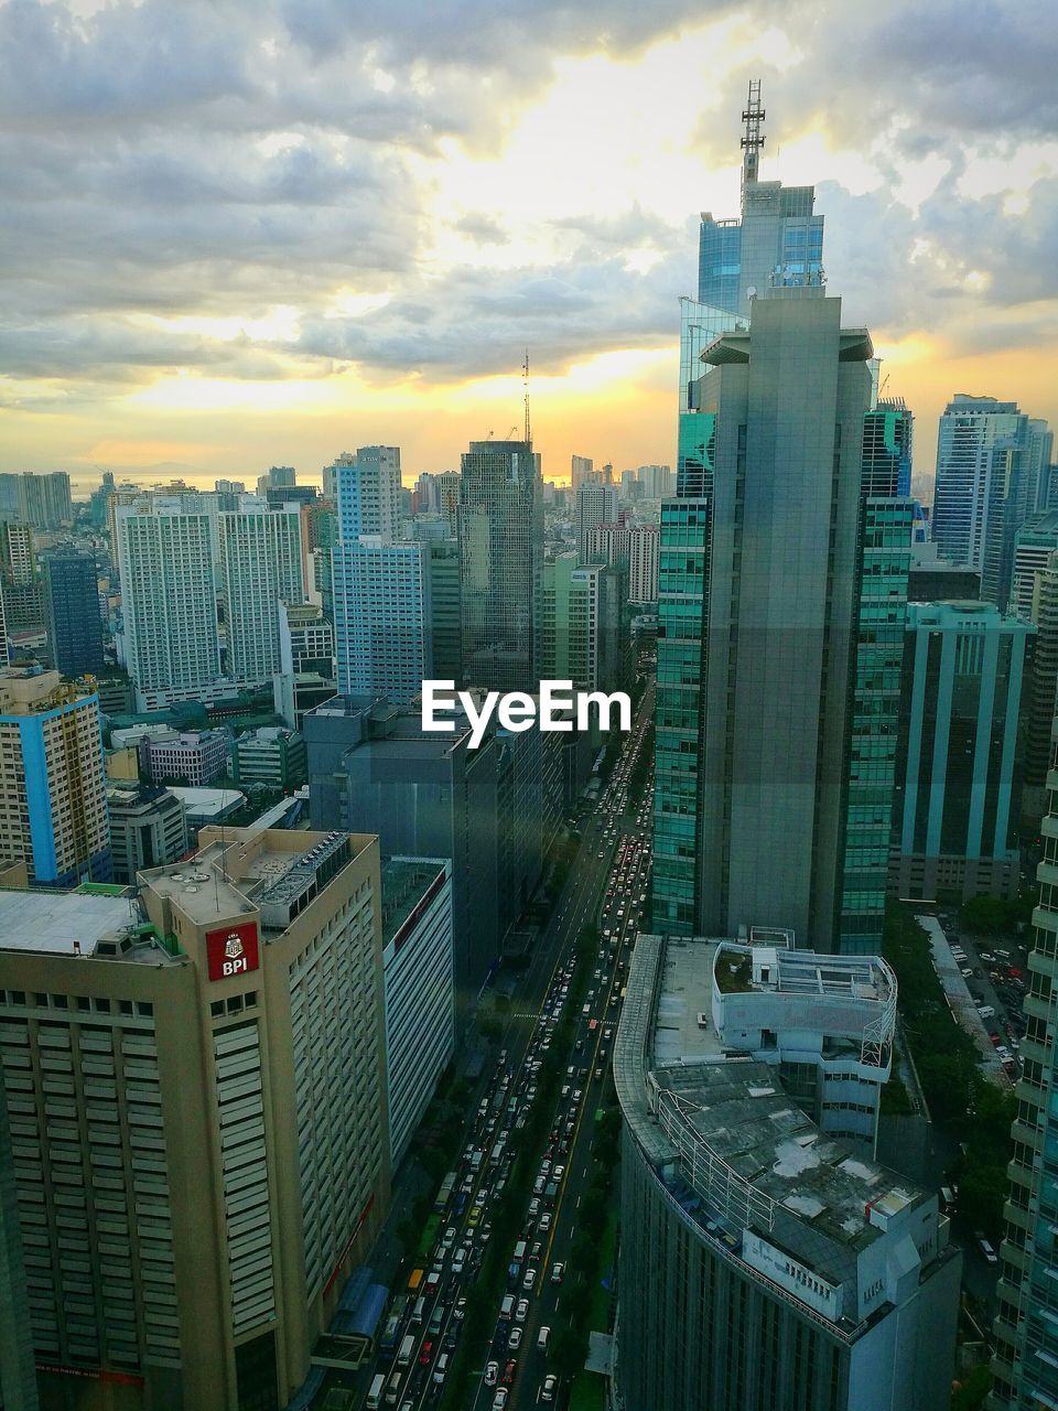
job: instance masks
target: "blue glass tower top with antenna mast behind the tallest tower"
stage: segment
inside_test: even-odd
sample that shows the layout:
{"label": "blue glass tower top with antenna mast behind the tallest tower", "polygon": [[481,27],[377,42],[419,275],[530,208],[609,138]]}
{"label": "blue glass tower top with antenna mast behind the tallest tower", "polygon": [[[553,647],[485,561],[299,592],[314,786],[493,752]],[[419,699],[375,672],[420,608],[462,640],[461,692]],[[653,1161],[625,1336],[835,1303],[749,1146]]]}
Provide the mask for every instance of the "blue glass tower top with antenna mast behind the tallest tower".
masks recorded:
{"label": "blue glass tower top with antenna mast behind the tallest tower", "polygon": [[742,317],[753,295],[791,285],[822,284],[822,216],[814,186],[759,179],[760,83],[752,80],[742,114],[742,216],[714,220],[703,212],[698,234],[698,302]]}

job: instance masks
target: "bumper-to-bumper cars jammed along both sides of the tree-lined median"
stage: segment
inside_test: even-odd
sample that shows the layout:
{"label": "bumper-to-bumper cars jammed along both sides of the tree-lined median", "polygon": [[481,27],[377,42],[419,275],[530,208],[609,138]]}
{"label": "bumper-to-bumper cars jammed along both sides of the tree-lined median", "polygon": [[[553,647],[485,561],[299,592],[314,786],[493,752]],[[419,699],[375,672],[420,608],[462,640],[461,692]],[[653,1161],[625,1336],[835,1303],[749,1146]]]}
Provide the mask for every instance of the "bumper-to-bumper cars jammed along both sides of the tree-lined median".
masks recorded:
{"label": "bumper-to-bumper cars jammed along both sides of the tree-lined median", "polygon": [[601,841],[608,845],[604,855],[612,852],[612,866],[600,912],[598,955],[576,1016],[570,1062],[560,1075],[557,1109],[509,1250],[506,1287],[491,1333],[485,1339],[480,1328],[464,1326],[467,1290],[494,1239],[491,1212],[511,1178],[542,1075],[563,1062],[554,1050],[554,1030],[567,1012],[573,954],[560,957],[556,965],[521,1064],[508,1048],[501,1051],[466,1147],[437,1191],[432,1221],[436,1237],[429,1257],[412,1270],[406,1288],[389,1308],[367,1394],[368,1411],[418,1411],[439,1401],[464,1338],[475,1339],[471,1366],[480,1377],[477,1390],[467,1393],[468,1405],[513,1411],[537,1403],[557,1405],[563,1395],[549,1352],[563,1325],[561,1290],[576,1233],[577,1187],[590,1161],[590,1133],[584,1133],[583,1147],[578,1137],[583,1127],[594,1125],[585,1118],[598,1108],[608,1081],[624,976],[649,888],[649,799],[640,800],[633,818],[626,817],[629,777],[642,744],[640,727],[600,800]]}

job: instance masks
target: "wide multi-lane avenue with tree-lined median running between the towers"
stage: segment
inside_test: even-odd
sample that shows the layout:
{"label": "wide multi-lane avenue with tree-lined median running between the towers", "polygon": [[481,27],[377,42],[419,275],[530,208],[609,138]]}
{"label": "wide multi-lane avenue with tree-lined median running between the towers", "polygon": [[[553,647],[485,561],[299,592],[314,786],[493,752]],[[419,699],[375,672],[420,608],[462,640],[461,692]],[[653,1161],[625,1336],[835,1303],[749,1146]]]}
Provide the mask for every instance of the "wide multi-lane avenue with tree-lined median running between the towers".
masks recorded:
{"label": "wide multi-lane avenue with tree-lined median running between the towers", "polygon": [[[563,893],[515,992],[499,1060],[482,1079],[470,1113],[453,1194],[433,1250],[420,1263],[422,1280],[412,1291],[394,1290],[398,1297],[406,1294],[408,1302],[394,1348],[379,1352],[371,1369],[379,1407],[434,1408],[464,1340],[475,1379],[466,1405],[521,1411],[537,1401],[549,1404],[549,1394],[552,1405],[564,1404],[564,1388],[547,1384],[550,1349],[537,1345],[543,1328],[552,1338],[563,1328],[564,1276],[573,1274],[570,1250],[591,1164],[594,1118],[609,1084],[622,976],[649,888],[650,804],[649,799],[629,800],[628,789],[652,694],[647,690],[607,792],[585,821]],[[595,924],[598,954],[580,1012],[570,1016],[576,1038],[567,1062],[553,1047],[554,1030],[567,1009],[577,938]],[[506,1185],[542,1075],[559,1061],[560,1095],[536,1154],[537,1189],[526,1197],[519,1237],[502,1252],[505,1268],[519,1266],[504,1291],[512,1302],[506,1309],[497,1307],[487,1326],[467,1328],[466,1292],[494,1237],[490,1212]],[[525,1249],[518,1249],[522,1242]],[[375,1405],[371,1391],[367,1405]]]}

